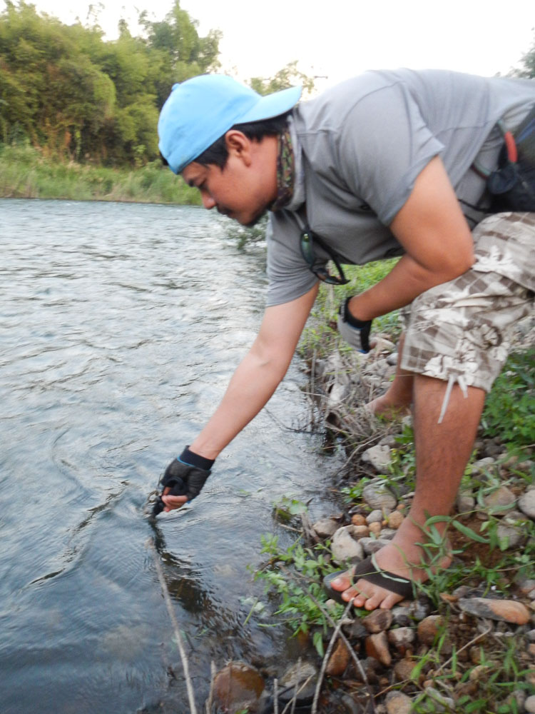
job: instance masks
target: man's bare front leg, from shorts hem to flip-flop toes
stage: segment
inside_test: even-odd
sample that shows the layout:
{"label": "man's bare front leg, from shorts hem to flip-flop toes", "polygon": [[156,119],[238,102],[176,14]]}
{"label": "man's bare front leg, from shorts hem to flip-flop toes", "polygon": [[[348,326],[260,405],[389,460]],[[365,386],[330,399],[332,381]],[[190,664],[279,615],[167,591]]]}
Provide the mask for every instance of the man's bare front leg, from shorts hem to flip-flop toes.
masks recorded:
{"label": "man's bare front leg, from shorts hem to flip-flop toes", "polygon": [[[438,423],[447,383],[432,377],[414,375],[414,439],[416,448],[417,483],[414,500],[407,518],[392,543],[376,555],[377,565],[402,578],[423,581],[427,573],[413,564],[421,563],[423,551],[417,543],[425,543],[422,531],[429,516],[448,516],[457,495],[459,483],[472,453],[477,426],[481,418],[485,393],[469,387],[467,397],[455,385],[442,423]],[[436,524],[439,531],[444,526]],[[444,558],[441,567],[447,567]],[[402,598],[367,580],[358,580],[350,587],[349,575],[332,582],[335,590],[344,591],[342,598],[355,598],[356,607],[367,610],[392,608]]]}

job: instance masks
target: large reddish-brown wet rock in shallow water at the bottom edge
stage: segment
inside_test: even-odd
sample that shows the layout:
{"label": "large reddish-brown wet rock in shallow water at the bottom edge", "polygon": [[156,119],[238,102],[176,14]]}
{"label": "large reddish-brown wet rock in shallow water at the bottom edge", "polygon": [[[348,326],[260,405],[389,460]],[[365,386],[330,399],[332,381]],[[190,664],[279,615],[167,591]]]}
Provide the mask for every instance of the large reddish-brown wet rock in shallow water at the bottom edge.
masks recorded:
{"label": "large reddish-brown wet rock in shallow water at the bottom edge", "polygon": [[213,698],[216,704],[230,711],[258,711],[264,690],[260,672],[245,662],[230,662],[214,678]]}

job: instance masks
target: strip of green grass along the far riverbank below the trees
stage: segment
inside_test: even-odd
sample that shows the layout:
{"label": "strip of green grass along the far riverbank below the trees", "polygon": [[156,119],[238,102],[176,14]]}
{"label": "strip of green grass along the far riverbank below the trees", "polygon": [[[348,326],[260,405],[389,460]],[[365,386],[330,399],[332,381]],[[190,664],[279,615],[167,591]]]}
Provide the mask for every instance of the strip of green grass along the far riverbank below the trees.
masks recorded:
{"label": "strip of green grass along the far riverbank below the trees", "polygon": [[21,145],[0,145],[0,197],[200,204],[198,191],[160,161],[138,169],[112,169],[51,161]]}

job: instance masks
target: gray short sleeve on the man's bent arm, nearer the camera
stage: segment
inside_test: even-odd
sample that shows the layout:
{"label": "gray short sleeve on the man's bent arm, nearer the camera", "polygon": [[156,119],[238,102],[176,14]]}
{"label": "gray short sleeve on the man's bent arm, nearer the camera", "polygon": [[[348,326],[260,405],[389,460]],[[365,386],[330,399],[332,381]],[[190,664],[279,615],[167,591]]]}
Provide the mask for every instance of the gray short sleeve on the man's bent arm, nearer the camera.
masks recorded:
{"label": "gray short sleeve on the man's bent arm, nearer the camera", "polygon": [[443,149],[407,86],[397,82],[350,109],[338,146],[340,170],[350,191],[388,226],[418,174]]}

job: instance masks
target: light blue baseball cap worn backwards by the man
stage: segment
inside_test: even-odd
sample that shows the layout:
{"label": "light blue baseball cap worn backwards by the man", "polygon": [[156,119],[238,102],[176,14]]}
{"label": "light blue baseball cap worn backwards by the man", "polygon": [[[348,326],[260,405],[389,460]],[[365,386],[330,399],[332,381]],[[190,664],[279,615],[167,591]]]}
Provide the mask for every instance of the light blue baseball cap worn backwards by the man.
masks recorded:
{"label": "light blue baseball cap worn backwards by the man", "polygon": [[301,87],[262,96],[223,74],[203,74],[175,84],[158,121],[158,148],[175,174],[234,124],[262,121],[290,111]]}

